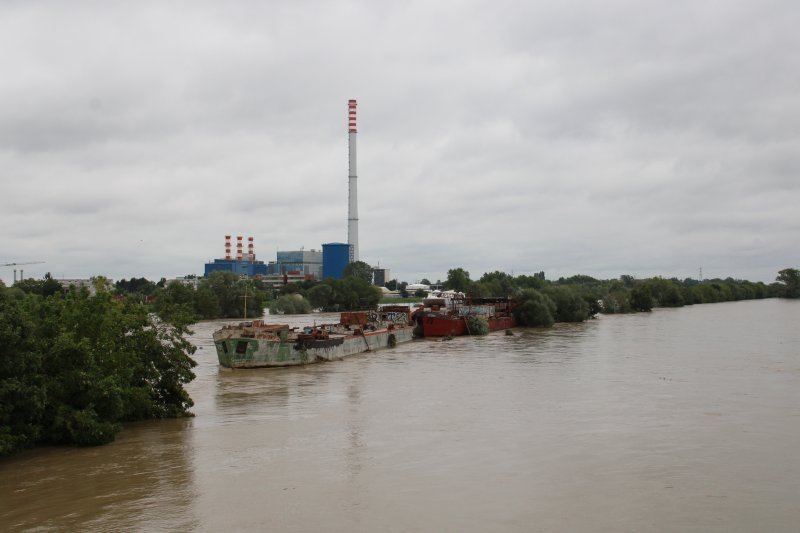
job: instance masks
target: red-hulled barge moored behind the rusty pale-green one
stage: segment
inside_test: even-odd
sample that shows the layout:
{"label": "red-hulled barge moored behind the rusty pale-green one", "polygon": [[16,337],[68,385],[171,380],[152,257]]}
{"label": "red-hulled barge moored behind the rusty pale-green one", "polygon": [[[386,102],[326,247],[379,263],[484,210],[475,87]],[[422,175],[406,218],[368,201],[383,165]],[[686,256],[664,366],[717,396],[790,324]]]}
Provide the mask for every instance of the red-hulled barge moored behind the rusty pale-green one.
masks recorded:
{"label": "red-hulled barge moored behind the rusty pale-green one", "polygon": [[455,337],[471,334],[469,317],[486,319],[489,331],[513,328],[514,300],[511,298],[467,298],[462,293],[439,293],[426,298],[424,307],[412,317],[424,337]]}

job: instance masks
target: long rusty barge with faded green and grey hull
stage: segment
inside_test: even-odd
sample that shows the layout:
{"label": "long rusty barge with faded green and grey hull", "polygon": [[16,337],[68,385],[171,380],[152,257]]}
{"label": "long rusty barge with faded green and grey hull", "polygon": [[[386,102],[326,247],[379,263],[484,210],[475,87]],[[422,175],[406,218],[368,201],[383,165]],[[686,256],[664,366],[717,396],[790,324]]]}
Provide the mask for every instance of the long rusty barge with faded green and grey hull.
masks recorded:
{"label": "long rusty barge with faded green and grey hull", "polygon": [[213,334],[226,368],[304,365],[391,348],[413,338],[409,309],[342,313],[336,324],[290,328],[263,320],[227,325]]}

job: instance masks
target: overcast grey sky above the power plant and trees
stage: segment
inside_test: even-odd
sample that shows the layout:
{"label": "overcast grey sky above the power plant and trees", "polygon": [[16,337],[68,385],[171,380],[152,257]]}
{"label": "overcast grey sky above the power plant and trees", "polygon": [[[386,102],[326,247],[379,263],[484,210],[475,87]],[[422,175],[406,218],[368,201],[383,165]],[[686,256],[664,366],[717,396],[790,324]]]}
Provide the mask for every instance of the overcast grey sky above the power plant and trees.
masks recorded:
{"label": "overcast grey sky above the power plant and trees", "polygon": [[0,2],[0,278],[800,268],[795,0]]}

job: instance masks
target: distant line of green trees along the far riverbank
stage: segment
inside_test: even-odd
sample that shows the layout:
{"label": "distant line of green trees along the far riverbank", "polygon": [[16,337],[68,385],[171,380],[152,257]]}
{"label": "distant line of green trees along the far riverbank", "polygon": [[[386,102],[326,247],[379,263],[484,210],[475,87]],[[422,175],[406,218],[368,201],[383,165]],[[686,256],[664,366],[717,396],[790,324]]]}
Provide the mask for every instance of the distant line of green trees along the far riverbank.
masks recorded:
{"label": "distant line of green trees along the far riverbank", "polygon": [[[144,278],[122,280],[116,287],[119,292],[135,287],[140,296],[152,295],[153,308],[162,317],[191,320],[258,317],[265,307],[272,313],[285,314],[373,308],[380,302],[381,292],[370,281],[369,265],[357,261],[346,267],[342,279],[289,283],[277,289],[257,279],[243,280],[230,272],[210,274],[200,280],[197,289],[177,282],[158,287]],[[544,272],[512,276],[500,271],[487,272],[472,280],[463,268],[453,268],[448,270],[442,285],[470,297],[513,297],[520,303],[521,324],[549,325],[586,320],[598,313],[633,313],[654,307],[769,297],[796,298],[800,296],[800,271],[783,269],[775,283],[766,285],[733,278],[699,281],[658,276],[635,279],[630,275],[611,280],[576,275],[550,281],[545,279]],[[405,286],[406,282],[397,280],[386,284],[390,290],[402,289],[401,296],[407,298],[411,295],[404,290]],[[418,291],[415,296],[424,294]],[[531,311],[534,306],[535,313]]]}

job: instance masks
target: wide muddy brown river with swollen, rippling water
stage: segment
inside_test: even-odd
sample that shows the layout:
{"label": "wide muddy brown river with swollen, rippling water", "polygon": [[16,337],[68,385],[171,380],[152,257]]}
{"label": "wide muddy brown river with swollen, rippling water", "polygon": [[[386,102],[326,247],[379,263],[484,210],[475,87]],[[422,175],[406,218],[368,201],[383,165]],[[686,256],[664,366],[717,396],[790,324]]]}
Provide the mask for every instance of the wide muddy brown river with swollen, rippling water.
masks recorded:
{"label": "wide muddy brown river with swollen, rippling water", "polygon": [[220,323],[194,327],[194,418],[0,461],[0,530],[800,528],[800,301],[281,370],[220,369]]}

